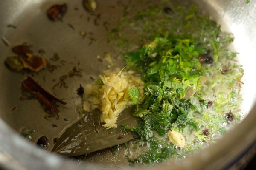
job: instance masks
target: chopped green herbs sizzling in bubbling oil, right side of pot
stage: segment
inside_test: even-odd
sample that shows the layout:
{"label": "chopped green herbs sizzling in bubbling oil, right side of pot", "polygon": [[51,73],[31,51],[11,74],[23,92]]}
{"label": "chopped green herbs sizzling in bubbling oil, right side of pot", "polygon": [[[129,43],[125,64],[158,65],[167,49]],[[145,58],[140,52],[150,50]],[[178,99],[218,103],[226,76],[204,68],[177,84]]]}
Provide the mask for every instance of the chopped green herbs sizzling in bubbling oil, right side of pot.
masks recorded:
{"label": "chopped green herbs sizzling in bubbling oil, right side of pot", "polygon": [[[130,34],[125,34],[127,30]],[[141,101],[136,88],[129,93],[137,103],[134,115],[141,121],[137,127],[124,127],[141,139],[137,146],[147,144],[148,149],[127,156],[131,164],[185,156],[200,148],[201,142],[214,141],[212,134],[225,133],[223,123],[241,119],[243,71],[235,61],[236,53],[227,50],[233,37],[222,33],[198,7],[149,6],[135,15],[126,14],[110,35],[123,47],[128,69],[139,72],[145,82]],[[202,86],[200,76],[207,77]],[[182,99],[190,87],[198,91],[190,99]],[[233,122],[225,117],[230,111]],[[169,142],[169,130],[186,136],[184,149]]]}

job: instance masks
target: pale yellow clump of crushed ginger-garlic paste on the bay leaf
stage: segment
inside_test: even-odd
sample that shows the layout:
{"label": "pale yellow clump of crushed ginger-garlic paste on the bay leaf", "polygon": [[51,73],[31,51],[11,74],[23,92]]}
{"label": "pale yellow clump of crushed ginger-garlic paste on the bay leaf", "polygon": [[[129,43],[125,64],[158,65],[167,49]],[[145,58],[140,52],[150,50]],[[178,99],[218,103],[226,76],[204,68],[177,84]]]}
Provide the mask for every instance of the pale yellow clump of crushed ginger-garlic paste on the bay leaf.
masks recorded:
{"label": "pale yellow clump of crushed ginger-garlic paste on the bay leaf", "polygon": [[144,82],[134,71],[107,70],[100,76],[102,85],[97,82],[88,84],[84,88],[84,111],[100,109],[100,119],[106,128],[116,128],[118,115],[133,102],[128,94],[129,89],[136,86],[142,97]]}

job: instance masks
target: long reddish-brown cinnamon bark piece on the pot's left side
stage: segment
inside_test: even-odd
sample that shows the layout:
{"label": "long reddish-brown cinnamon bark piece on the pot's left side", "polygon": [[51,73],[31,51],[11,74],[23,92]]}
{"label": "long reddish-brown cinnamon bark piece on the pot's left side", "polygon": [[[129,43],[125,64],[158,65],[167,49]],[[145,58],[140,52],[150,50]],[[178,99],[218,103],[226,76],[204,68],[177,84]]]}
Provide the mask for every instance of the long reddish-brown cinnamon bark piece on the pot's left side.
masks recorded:
{"label": "long reddish-brown cinnamon bark piece on the pot's left side", "polygon": [[22,82],[23,88],[29,91],[33,96],[41,102],[50,113],[58,113],[59,110],[57,108],[55,102],[58,102],[62,105],[66,105],[67,103],[62,101],[61,99],[56,98],[44,88],[41,87],[35,80],[31,77],[27,77],[26,80]]}

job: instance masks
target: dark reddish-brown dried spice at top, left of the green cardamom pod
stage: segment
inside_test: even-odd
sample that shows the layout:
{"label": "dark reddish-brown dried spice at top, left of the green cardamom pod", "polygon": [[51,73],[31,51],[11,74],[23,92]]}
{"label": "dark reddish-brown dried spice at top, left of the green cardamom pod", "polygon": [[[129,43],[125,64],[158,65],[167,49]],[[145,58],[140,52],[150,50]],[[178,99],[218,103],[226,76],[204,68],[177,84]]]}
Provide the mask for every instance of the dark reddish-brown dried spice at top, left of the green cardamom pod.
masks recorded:
{"label": "dark reddish-brown dried spice at top, left of the green cardamom pod", "polygon": [[67,5],[53,5],[47,10],[47,16],[50,20],[59,20],[67,11]]}

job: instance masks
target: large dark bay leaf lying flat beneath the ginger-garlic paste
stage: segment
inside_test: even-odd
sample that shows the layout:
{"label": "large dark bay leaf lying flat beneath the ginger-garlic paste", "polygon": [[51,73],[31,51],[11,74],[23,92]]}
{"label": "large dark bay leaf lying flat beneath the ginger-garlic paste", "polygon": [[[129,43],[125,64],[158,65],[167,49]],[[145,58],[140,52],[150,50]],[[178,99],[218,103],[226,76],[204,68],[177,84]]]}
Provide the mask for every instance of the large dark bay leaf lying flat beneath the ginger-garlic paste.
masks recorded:
{"label": "large dark bay leaf lying flat beneath the ginger-garlic paste", "polygon": [[100,111],[88,113],[67,128],[56,142],[52,151],[63,156],[79,156],[134,139],[132,132],[122,129],[122,125],[135,127],[138,117],[132,115],[132,108],[125,109],[117,119],[117,128],[106,129],[99,120]]}

